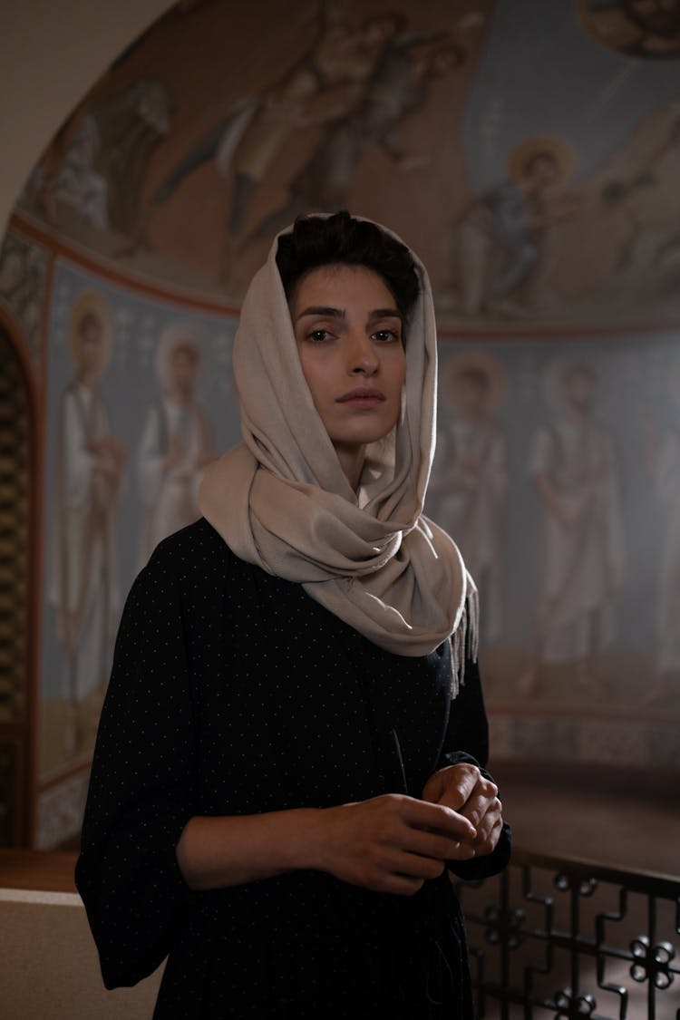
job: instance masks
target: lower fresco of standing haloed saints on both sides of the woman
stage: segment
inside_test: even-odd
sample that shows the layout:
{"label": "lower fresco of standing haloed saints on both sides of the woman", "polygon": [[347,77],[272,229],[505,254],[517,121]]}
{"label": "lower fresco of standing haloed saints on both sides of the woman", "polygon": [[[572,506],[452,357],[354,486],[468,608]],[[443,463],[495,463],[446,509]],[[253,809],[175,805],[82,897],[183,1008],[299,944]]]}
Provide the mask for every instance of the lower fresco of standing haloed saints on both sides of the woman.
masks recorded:
{"label": "lower fresco of standing haloed saints on both sides of the woman", "polygon": [[[237,322],[57,260],[45,778],[87,762],[121,598],[155,543],[198,516],[207,460],[239,441]],[[653,726],[668,743],[680,722],[676,336],[439,346],[426,511],[456,537],[479,585],[489,708],[494,725],[516,722],[502,746],[511,756],[532,746],[520,724],[528,711],[529,729],[567,713],[573,740],[584,720],[599,722],[601,747],[616,707],[619,726],[628,719],[646,734],[635,761],[648,764],[663,746]]]}

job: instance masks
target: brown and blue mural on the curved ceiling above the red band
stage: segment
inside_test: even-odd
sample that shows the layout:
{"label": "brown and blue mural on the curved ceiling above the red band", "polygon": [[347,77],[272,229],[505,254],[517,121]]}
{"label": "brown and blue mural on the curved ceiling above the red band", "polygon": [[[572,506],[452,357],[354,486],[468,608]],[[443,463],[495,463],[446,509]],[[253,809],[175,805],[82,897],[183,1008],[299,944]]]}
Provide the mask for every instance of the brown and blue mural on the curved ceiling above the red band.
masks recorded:
{"label": "brown and blue mural on the curved ceiling above the red band", "polygon": [[62,126],[21,209],[227,304],[275,231],[349,207],[417,248],[443,325],[677,321],[677,0],[279,14],[170,11]]}

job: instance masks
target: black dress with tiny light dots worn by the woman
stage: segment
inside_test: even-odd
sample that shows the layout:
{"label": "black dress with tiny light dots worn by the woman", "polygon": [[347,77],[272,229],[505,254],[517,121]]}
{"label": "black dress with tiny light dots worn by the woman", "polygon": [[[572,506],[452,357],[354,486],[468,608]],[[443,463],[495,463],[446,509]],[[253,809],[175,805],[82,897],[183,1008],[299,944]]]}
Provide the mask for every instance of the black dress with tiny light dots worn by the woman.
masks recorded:
{"label": "black dress with tiny light dots worn by the woman", "polygon": [[[315,871],[197,892],[174,853],[193,815],[418,797],[437,768],[483,765],[476,667],[454,702],[450,690],[449,643],[381,651],[205,520],[163,542],[123,613],[76,867],[106,986],[169,954],[158,1020],[469,1020],[446,874],[407,898]],[[505,830],[454,870],[483,877],[509,853]]]}

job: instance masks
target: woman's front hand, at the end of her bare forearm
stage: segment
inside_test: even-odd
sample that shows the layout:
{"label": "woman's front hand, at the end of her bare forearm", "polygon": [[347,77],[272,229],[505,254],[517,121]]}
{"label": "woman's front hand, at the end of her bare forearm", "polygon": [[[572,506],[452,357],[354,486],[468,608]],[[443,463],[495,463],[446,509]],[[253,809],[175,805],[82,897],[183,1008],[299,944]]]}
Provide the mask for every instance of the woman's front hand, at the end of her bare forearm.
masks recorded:
{"label": "woman's front hand, at the end of her bare forearm", "polygon": [[377,892],[413,896],[444,861],[474,857],[477,833],[446,803],[385,794],[320,811],[315,834],[314,867]]}

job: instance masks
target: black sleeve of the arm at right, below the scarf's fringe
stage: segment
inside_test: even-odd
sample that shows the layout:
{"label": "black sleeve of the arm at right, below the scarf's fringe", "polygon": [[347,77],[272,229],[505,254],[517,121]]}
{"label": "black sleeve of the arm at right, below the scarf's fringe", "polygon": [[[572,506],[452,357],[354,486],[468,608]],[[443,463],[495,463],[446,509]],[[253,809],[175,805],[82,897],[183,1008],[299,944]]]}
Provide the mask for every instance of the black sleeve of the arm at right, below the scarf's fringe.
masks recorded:
{"label": "black sleeve of the arm at right, below the scarf's fringe", "polygon": [[[488,722],[484,708],[479,665],[468,659],[465,665],[465,682],[458,697],[451,703],[449,726],[443,743],[439,768],[466,762],[478,765],[486,778],[488,762]],[[498,874],[510,861],[510,826],[505,824],[492,854],[472,861],[451,861],[449,870],[459,878],[473,881]]]}

